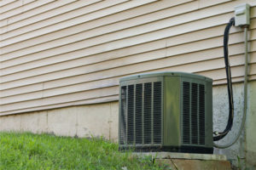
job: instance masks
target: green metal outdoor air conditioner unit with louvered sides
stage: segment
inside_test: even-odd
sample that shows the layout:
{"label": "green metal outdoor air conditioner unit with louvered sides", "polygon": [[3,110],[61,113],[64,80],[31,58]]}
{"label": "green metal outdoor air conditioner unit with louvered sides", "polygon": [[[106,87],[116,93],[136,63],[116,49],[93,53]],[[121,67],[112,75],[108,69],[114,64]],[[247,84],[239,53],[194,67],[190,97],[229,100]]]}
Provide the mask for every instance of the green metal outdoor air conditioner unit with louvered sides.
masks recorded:
{"label": "green metal outdoor air conditioner unit with louvered sides", "polygon": [[119,150],[212,153],[212,79],[157,72],[120,79]]}

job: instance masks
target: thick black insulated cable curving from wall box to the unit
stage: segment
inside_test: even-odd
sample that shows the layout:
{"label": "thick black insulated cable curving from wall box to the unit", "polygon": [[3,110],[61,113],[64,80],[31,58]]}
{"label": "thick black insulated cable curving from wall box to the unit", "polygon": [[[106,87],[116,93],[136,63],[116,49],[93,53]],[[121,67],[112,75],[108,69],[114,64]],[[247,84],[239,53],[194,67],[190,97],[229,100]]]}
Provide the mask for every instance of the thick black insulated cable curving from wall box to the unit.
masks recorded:
{"label": "thick black insulated cable curving from wall box to the unit", "polygon": [[233,100],[233,88],[232,88],[232,79],[231,79],[231,71],[230,71],[230,62],[229,62],[229,34],[231,26],[235,25],[235,18],[231,18],[230,22],[225,27],[224,31],[224,62],[225,62],[225,70],[227,76],[227,85],[228,85],[228,95],[229,95],[229,120],[226,128],[223,132],[218,133],[214,132],[215,136],[213,136],[213,141],[217,141],[223,139],[231,130],[233,126],[233,118],[234,118],[234,100]]}

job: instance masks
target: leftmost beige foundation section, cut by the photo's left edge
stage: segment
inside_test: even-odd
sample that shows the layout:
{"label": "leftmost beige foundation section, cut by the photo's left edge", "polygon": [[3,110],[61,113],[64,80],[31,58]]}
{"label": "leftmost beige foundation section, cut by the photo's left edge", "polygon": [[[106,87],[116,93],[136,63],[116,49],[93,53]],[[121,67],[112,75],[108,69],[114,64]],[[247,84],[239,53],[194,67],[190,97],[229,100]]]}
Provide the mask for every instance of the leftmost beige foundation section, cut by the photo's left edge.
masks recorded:
{"label": "leftmost beige foundation section, cut by the photo's left edge", "polygon": [[0,131],[20,131],[20,115],[0,116]]}

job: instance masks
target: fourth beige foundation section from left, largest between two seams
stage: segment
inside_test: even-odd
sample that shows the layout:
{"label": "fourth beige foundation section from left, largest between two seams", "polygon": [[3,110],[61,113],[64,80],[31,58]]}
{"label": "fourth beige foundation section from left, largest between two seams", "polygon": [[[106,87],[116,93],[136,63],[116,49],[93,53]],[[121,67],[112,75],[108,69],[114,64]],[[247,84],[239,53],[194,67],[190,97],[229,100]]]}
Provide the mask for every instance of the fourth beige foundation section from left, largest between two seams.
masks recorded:
{"label": "fourth beige foundation section from left, largest between two seams", "polygon": [[104,137],[110,139],[110,103],[84,105],[77,108],[79,137]]}

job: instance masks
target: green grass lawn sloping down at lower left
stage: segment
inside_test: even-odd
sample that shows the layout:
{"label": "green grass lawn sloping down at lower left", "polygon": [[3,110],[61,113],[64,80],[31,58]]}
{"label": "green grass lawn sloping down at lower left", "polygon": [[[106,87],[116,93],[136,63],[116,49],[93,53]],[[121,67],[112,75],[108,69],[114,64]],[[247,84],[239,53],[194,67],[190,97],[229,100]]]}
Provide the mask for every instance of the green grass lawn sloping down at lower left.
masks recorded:
{"label": "green grass lawn sloping down at lower left", "polygon": [[0,133],[0,169],[162,169],[149,157],[122,154],[104,139]]}

